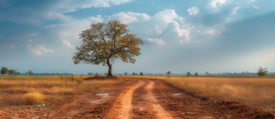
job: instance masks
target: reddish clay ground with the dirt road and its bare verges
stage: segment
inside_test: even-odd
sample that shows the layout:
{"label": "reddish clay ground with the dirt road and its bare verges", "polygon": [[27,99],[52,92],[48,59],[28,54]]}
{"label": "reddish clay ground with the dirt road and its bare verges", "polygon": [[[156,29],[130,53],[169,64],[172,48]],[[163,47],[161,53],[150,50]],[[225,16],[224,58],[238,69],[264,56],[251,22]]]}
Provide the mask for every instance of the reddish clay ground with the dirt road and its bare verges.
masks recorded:
{"label": "reddish clay ground with the dirt road and its bare verges", "polygon": [[128,79],[47,103],[45,108],[2,106],[0,119],[275,119],[261,108],[181,90],[160,80]]}

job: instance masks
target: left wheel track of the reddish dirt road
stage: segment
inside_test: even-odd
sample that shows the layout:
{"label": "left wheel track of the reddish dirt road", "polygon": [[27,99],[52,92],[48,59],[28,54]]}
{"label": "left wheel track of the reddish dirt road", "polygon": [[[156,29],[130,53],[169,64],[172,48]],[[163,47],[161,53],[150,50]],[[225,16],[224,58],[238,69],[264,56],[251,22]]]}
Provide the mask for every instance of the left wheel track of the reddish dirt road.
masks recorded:
{"label": "left wheel track of the reddish dirt road", "polygon": [[[144,85],[144,81],[138,80],[137,83],[126,88],[123,93],[121,93],[116,103],[113,105],[107,119],[130,119],[130,111],[132,109],[132,96],[134,91]],[[119,117],[114,117],[114,116]]]}

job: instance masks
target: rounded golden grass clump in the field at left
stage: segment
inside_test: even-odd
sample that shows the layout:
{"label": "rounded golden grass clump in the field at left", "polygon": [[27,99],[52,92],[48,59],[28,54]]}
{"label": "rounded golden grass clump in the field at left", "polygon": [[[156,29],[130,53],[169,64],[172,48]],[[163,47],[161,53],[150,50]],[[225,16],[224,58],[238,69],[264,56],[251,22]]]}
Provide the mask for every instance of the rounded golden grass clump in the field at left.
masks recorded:
{"label": "rounded golden grass clump in the field at left", "polygon": [[33,105],[33,104],[39,104],[42,103],[44,100],[44,95],[38,92],[31,92],[24,95],[24,105]]}

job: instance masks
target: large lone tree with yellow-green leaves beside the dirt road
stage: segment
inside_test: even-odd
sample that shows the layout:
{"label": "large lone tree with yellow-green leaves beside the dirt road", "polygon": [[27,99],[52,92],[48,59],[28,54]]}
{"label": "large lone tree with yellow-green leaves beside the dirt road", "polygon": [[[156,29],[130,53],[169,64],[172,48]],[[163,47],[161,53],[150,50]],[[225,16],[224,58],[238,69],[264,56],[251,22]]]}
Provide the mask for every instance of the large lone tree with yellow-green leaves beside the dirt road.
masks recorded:
{"label": "large lone tree with yellow-green leaves beside the dirt road", "polygon": [[80,61],[95,65],[101,63],[103,66],[107,64],[107,76],[113,76],[112,64],[116,59],[135,63],[133,57],[140,55],[139,46],[143,42],[135,34],[128,32],[127,25],[119,21],[91,24],[91,28],[79,34],[83,44],[76,47],[78,52],[72,58],[74,64]]}

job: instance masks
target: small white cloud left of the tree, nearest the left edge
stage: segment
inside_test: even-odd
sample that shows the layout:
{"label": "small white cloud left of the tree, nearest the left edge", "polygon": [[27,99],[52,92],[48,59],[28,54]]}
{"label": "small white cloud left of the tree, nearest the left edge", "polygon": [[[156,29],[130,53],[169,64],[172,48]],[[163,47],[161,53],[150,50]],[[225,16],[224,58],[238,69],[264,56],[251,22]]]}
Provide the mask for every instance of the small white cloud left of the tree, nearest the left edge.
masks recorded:
{"label": "small white cloud left of the tree, nearest the left edge", "polygon": [[48,53],[48,52],[54,53],[54,50],[46,49],[43,45],[36,45],[35,47],[32,47],[30,44],[28,44],[27,47],[34,55],[42,55],[42,52],[44,52],[44,53]]}

